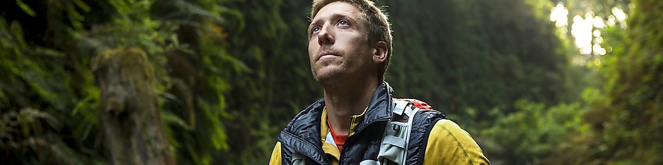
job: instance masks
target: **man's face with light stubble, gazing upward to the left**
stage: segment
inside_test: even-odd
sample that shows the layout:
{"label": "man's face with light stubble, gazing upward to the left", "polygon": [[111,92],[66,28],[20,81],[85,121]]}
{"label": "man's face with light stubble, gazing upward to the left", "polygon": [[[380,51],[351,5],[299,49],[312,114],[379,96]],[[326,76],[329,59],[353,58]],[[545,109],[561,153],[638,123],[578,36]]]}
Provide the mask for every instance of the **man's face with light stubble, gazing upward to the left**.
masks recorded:
{"label": "man's face with light stubble, gazing upward to the left", "polygon": [[338,1],[325,5],[311,20],[308,34],[311,72],[318,83],[361,78],[372,69],[367,27],[353,5]]}

